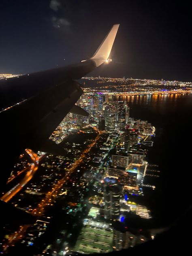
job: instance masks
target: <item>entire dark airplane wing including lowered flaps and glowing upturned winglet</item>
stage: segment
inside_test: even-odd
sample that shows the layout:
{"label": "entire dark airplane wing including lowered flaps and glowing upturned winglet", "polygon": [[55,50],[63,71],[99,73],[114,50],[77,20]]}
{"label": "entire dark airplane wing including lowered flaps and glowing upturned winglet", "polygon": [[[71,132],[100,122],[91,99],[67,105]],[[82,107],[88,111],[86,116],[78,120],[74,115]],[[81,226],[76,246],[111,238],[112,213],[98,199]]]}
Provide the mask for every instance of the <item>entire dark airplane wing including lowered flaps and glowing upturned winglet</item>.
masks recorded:
{"label": "entire dark airplane wing including lowered flaps and glowing upturned winglet", "polygon": [[0,108],[8,107],[0,112],[0,139],[4,149],[0,154],[1,163],[4,164],[0,180],[2,185],[10,176],[15,160],[26,148],[52,151],[53,154],[65,153],[49,137],[68,112],[87,115],[86,111],[75,105],[83,90],[74,79],[87,75],[109,58],[118,28],[119,24],[111,28],[89,60],[0,83]]}

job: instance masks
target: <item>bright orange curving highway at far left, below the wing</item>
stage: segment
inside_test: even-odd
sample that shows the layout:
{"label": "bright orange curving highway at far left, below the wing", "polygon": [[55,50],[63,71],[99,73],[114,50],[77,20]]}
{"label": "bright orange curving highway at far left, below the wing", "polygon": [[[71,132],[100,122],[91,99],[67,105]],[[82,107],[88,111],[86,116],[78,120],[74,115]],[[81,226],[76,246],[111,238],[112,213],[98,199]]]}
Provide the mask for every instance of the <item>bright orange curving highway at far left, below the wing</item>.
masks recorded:
{"label": "bright orange curving highway at far left, below the wing", "polygon": [[23,186],[25,186],[32,179],[34,173],[36,173],[36,170],[38,169],[38,162],[40,158],[31,149],[26,149],[26,152],[30,155],[32,164],[30,164],[30,166],[23,170],[27,171],[27,173],[26,176],[20,181],[20,183],[18,183],[15,187],[11,188],[11,190],[6,192],[6,194],[4,194],[0,198],[6,203],[11,200],[11,198],[15,196],[23,188]]}

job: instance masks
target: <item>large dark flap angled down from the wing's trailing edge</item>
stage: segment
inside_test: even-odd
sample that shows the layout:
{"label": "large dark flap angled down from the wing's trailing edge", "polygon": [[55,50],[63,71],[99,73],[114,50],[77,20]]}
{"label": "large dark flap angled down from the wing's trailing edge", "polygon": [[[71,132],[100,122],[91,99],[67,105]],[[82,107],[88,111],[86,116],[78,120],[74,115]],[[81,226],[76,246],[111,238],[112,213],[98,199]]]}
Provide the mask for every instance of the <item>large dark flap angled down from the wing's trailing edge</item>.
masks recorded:
{"label": "large dark flap angled down from the wing's trailing edge", "polygon": [[[82,94],[77,81],[69,80],[54,86],[2,112],[1,130],[9,134],[13,145],[24,145],[19,151],[25,148],[40,149]],[[6,137],[4,140],[6,144]]]}

